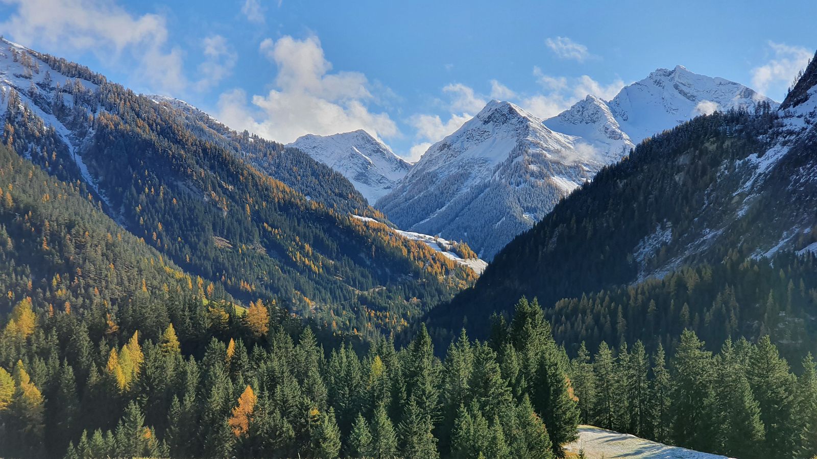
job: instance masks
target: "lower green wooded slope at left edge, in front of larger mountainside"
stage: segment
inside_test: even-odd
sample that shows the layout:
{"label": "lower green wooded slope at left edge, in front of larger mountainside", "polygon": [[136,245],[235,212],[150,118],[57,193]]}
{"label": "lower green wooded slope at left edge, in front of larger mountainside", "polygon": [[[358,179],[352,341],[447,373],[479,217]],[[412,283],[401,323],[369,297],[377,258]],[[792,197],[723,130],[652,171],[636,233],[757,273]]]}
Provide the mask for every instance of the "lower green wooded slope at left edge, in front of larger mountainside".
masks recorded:
{"label": "lower green wooded slope at left edge, in front of larger mountainside", "polygon": [[[25,297],[34,307],[116,314],[143,289],[182,285],[203,296],[224,296],[153,247],[120,228],[87,198],[84,184],[65,183],[0,145],[0,312]],[[13,292],[13,293],[12,293]],[[191,293],[192,293],[191,292]]]}

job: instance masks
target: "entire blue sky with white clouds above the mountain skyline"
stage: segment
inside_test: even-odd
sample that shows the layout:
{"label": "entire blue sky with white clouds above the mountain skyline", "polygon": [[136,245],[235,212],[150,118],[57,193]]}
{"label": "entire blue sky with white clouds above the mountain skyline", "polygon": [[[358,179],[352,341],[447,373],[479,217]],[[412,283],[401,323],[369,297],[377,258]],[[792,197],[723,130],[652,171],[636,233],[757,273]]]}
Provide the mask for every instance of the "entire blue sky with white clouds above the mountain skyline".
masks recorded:
{"label": "entire blue sky with white clouds above the mountain skyline", "polygon": [[817,2],[0,0],[0,33],[230,127],[364,128],[416,159],[492,98],[544,118],[659,67],[782,100]]}

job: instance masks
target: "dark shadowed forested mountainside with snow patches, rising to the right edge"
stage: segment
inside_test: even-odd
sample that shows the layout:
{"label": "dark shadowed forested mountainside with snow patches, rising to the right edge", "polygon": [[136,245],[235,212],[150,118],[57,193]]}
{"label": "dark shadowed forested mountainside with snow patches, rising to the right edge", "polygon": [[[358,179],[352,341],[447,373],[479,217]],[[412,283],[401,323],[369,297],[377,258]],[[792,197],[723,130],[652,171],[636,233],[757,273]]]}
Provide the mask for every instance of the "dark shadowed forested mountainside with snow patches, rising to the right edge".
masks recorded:
{"label": "dark shadowed forested mountainside with snow patches, rising to the right edge", "polygon": [[[548,310],[575,298],[560,301],[553,312],[554,328],[574,345],[587,336],[609,340],[617,309],[631,327],[620,336],[637,337],[641,328],[632,327],[644,323],[645,291],[665,289],[678,301],[659,305],[659,316],[666,318],[660,320],[698,332],[709,327],[719,338],[725,330],[756,338],[771,333],[786,345],[812,350],[810,341],[798,341],[804,330],[817,331],[813,298],[802,283],[794,279],[761,298],[746,296],[769,288],[775,272],[785,279],[796,265],[814,265],[815,149],[817,60],[812,60],[779,107],[766,102],[752,112],[695,118],[637,145],[627,160],[599,172],[504,247],[475,287],[433,310],[430,321],[456,332],[463,318],[507,310],[523,295],[538,297]],[[794,254],[805,260],[792,261]],[[766,259],[774,259],[773,267]],[[735,279],[727,283],[718,274],[724,270],[743,274],[730,274]],[[757,272],[766,274],[754,279]],[[714,302],[685,299],[699,280],[710,285],[705,288],[713,297],[717,291],[711,289],[721,289]],[[619,296],[628,299],[617,305],[613,289],[620,286],[630,287],[621,287]],[[600,293],[588,298],[592,292]],[[744,296],[745,302],[727,301],[730,296]],[[685,301],[688,307],[681,308]],[[726,307],[734,312],[725,313]],[[487,333],[484,321],[477,327]]]}

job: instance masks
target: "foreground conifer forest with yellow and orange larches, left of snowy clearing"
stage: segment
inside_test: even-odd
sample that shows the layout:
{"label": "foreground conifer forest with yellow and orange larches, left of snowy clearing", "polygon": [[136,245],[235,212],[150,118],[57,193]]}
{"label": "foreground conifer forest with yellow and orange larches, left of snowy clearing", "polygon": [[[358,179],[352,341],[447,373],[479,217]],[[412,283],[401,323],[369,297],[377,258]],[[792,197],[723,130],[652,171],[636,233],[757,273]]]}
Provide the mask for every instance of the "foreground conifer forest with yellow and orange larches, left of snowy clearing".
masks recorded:
{"label": "foreground conifer forest with yellow and orange larches, left of snowy clearing", "polygon": [[277,305],[152,299],[158,310],[107,328],[15,306],[0,334],[0,453],[551,459],[576,437],[567,360],[527,302],[502,341],[463,332],[440,360],[425,328],[402,350],[381,339],[356,354]]}

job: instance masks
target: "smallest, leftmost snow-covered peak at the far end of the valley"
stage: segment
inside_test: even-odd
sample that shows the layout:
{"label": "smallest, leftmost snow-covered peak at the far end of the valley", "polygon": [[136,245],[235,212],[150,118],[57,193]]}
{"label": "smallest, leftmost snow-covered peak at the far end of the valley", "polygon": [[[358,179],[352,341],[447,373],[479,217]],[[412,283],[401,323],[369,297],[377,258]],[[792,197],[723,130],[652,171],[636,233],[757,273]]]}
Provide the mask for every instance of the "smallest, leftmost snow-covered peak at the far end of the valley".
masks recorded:
{"label": "smallest, leftmost snow-covered peak at the far end of the valley", "polygon": [[411,168],[411,164],[362,129],[333,136],[309,134],[287,146],[301,149],[342,173],[369,203],[389,193]]}

